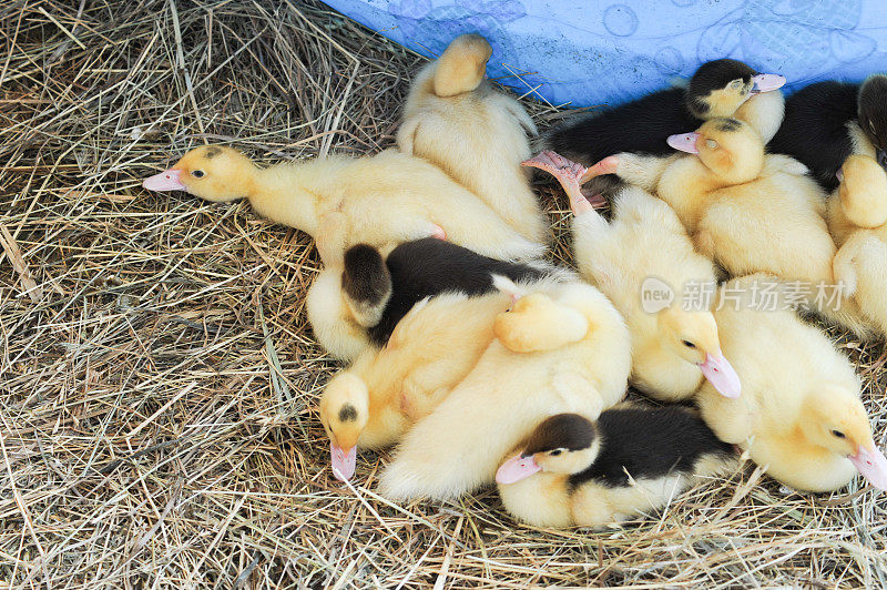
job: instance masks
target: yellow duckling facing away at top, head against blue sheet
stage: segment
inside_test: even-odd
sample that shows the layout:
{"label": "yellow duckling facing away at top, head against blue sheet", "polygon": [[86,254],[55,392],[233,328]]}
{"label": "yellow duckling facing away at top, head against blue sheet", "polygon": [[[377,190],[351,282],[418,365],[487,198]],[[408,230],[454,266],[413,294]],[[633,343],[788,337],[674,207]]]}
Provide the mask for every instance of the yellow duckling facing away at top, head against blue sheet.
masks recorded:
{"label": "yellow duckling facing away at top, head against blue sheet", "polygon": [[520,166],[536,124],[485,79],[491,53],[486,39],[463,34],[422,68],[410,84],[397,146],[440,166],[524,237],[547,242],[548,220]]}

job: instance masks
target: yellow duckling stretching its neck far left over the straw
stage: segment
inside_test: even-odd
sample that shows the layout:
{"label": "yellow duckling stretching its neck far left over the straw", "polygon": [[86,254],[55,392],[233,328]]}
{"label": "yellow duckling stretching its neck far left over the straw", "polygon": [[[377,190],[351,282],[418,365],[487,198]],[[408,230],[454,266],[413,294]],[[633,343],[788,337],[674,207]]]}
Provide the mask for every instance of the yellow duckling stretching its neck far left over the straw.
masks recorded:
{"label": "yellow duckling stretching its neck far left over the straw", "polygon": [[384,247],[428,236],[503,260],[543,250],[439,169],[395,150],[259,169],[231,148],[197,148],[144,187],[215,202],[246,197],[261,215],[314,236],[325,264],[340,263],[354,244]]}

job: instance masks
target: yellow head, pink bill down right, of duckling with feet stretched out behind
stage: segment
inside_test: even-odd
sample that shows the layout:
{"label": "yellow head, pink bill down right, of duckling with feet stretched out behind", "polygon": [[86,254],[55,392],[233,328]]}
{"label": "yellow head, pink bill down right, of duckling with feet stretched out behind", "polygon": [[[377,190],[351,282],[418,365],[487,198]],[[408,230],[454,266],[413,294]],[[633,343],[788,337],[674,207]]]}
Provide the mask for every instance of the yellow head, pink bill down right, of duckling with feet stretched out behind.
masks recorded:
{"label": "yellow head, pink bill down right, of duckling with feet stretched out behind", "polygon": [[740,376],[721,352],[717,324],[711,312],[672,305],[659,312],[656,319],[660,340],[666,349],[700,367],[724,397],[740,397]]}

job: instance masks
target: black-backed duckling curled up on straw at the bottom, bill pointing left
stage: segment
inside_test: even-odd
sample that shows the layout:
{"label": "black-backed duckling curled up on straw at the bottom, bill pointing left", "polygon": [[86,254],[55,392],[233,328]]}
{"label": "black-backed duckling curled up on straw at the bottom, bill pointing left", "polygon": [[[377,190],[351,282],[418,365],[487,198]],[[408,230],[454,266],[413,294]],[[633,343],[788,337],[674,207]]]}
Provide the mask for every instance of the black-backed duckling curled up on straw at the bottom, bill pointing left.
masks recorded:
{"label": "black-backed duckling curled up on straw at the bottom, bill pointing left", "polygon": [[687,408],[616,407],[595,423],[546,419],[496,481],[506,509],[530,525],[601,527],[666,506],[735,466],[733,446]]}

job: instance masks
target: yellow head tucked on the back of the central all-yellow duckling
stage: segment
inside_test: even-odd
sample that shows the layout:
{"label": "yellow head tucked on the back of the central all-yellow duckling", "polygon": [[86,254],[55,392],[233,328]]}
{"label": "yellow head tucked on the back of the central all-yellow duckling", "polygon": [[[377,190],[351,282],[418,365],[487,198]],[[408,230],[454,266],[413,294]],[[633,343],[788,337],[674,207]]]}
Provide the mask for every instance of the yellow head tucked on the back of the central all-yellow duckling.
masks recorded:
{"label": "yellow head tucked on the back of the central all-yellow duckling", "polygon": [[516,353],[554,350],[581,340],[588,329],[588,321],[581,313],[542,293],[521,297],[493,323],[496,337]]}

